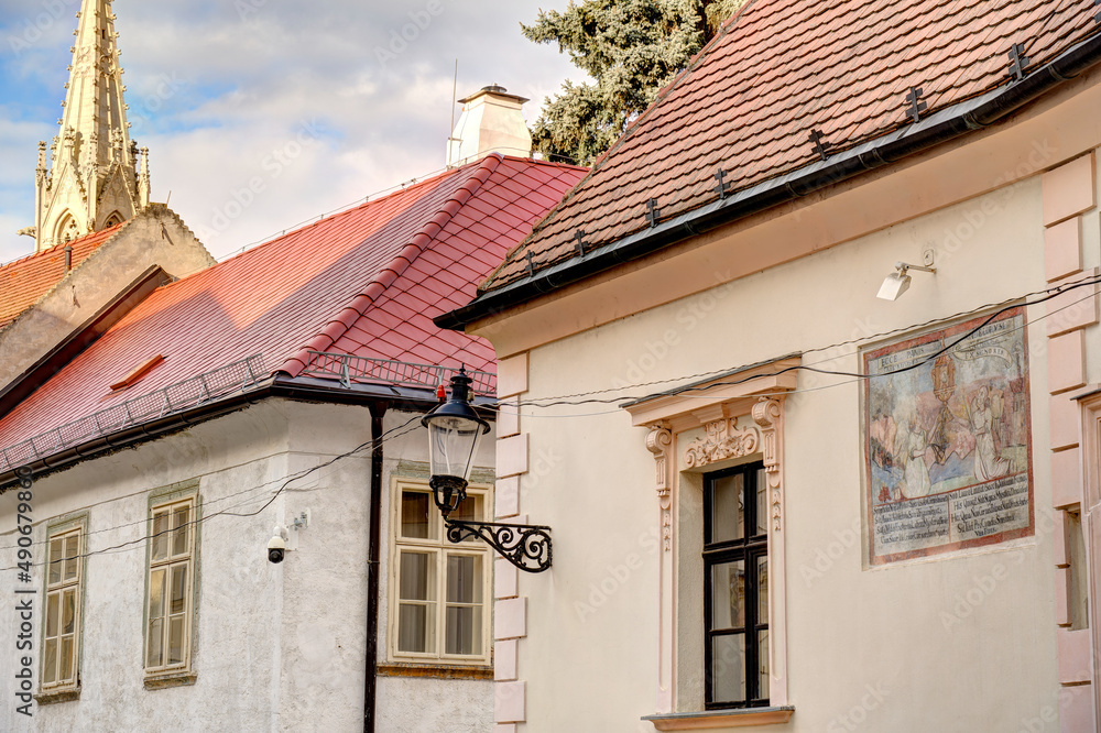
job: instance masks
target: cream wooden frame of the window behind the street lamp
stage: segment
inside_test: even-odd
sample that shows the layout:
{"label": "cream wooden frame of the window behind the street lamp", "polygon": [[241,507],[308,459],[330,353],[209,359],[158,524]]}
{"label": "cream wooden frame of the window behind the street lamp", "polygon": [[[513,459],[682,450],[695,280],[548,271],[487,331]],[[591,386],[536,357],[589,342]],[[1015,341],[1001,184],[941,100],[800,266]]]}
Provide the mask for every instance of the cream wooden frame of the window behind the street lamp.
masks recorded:
{"label": "cream wooden frame of the window behind the street lamp", "polygon": [[[402,533],[402,494],[406,491],[426,493],[429,496],[428,516],[435,522],[435,537],[417,538],[404,537]],[[492,491],[489,485],[472,484],[467,488],[469,497],[479,497],[482,502],[482,517],[491,511]],[[417,665],[446,665],[458,667],[488,667],[492,661],[492,578],[493,578],[493,555],[484,543],[479,540],[467,540],[462,543],[448,541],[444,528],[444,517],[432,503],[432,489],[427,481],[410,478],[395,477],[392,481],[391,511],[390,511],[390,572],[388,582],[390,584],[389,622],[386,645],[388,657],[391,663],[417,664]],[[401,609],[401,554],[402,550],[422,551],[433,556],[435,568],[436,600],[433,601],[436,608],[435,626],[435,650],[434,652],[403,652],[397,648],[399,644],[399,620]],[[444,646],[447,639],[447,558],[453,556],[476,556],[480,557],[481,564],[481,586],[482,586],[482,617],[481,617],[481,654],[458,655],[447,654]]]}

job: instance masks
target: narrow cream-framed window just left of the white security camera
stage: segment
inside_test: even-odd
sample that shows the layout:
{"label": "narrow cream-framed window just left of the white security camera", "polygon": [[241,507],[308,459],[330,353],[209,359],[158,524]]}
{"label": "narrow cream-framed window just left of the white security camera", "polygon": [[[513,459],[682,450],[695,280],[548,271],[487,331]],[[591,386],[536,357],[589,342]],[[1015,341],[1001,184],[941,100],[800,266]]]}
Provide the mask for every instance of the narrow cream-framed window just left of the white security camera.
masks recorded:
{"label": "narrow cream-framed window just left of the white security camera", "polygon": [[195,496],[150,510],[145,595],[145,672],[184,671],[190,665],[195,586]]}

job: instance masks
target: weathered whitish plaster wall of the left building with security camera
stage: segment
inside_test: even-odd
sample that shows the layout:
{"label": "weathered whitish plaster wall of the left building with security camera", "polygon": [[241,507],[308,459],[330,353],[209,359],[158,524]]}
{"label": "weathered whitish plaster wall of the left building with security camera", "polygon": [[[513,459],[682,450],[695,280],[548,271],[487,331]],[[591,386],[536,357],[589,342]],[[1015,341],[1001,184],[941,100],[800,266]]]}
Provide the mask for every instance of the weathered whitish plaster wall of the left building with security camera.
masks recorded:
{"label": "weathered whitish plaster wall of the left building with security camera", "polygon": [[[410,417],[395,414],[388,426]],[[31,719],[17,714],[18,619],[12,602],[0,603],[0,730],[362,730],[369,446],[292,482],[257,516],[203,523],[193,664],[198,678],[192,687],[143,687],[142,538],[151,490],[197,478],[205,513],[249,513],[287,475],[369,444],[370,437],[366,407],[269,400],[36,481],[36,541],[43,539],[48,521],[77,511],[89,514],[91,551],[138,541],[124,551],[88,558],[78,701],[35,705]],[[414,460],[423,460],[424,442],[424,431],[417,428],[388,442],[385,450],[388,456],[407,450]],[[491,450],[492,441],[487,445]],[[15,507],[14,492],[0,497],[0,568],[15,562]],[[310,525],[297,533],[297,549],[281,565],[268,562],[274,525],[290,524],[307,508]],[[385,530],[382,537],[385,541]],[[386,555],[383,547],[382,557]],[[45,548],[37,545],[35,561],[44,557]],[[14,575],[3,577],[10,600]],[[35,588],[41,583],[40,568]],[[384,620],[381,615],[383,630]],[[42,621],[40,608],[32,655],[35,685]],[[435,727],[435,721],[448,716],[461,725],[446,730],[487,730],[492,719],[490,688],[483,681],[388,681],[379,687],[385,724],[380,722],[377,730],[445,730]],[[423,720],[433,722],[424,727]]]}

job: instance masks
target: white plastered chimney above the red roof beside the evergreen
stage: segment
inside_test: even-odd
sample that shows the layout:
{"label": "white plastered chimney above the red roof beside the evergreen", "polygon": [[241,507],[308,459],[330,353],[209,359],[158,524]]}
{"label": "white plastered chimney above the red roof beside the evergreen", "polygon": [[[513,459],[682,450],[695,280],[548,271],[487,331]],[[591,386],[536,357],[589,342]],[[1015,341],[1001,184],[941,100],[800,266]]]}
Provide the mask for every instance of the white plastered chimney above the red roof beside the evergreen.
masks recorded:
{"label": "white plastered chimney above the red roof beside the evergreen", "polygon": [[495,84],[460,99],[462,114],[447,139],[447,166],[466,165],[490,153],[531,157],[532,133],[521,108],[527,100]]}

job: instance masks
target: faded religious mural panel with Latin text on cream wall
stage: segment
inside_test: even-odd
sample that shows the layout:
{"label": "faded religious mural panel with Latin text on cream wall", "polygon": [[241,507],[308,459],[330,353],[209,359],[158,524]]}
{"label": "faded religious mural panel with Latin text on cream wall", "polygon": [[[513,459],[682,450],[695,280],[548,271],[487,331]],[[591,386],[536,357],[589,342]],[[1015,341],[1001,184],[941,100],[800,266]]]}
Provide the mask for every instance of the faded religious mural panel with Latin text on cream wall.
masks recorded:
{"label": "faded religious mural panel with Latin text on cream wall", "polygon": [[862,352],[871,565],[1035,533],[1025,326],[1017,307]]}

